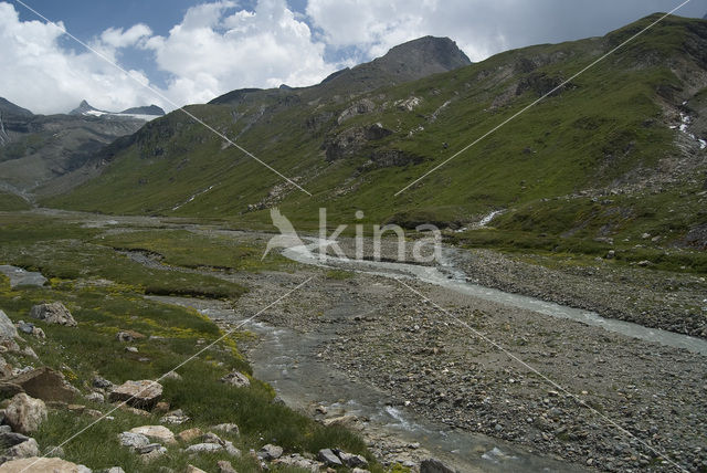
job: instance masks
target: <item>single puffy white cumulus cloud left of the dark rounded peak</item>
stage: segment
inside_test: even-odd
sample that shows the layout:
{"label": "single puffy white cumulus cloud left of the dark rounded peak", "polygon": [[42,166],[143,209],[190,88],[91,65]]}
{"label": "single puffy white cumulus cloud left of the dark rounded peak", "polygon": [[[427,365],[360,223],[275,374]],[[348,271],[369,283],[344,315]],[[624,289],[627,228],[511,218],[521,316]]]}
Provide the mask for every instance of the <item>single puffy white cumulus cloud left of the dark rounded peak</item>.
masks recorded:
{"label": "single puffy white cumulus cloud left of the dark rounded peak", "polygon": [[260,0],[254,11],[233,7],[193,7],[167,38],[147,41],[159,69],[175,76],[170,98],[204,102],[240,87],[310,85],[336,69],[284,0]]}

